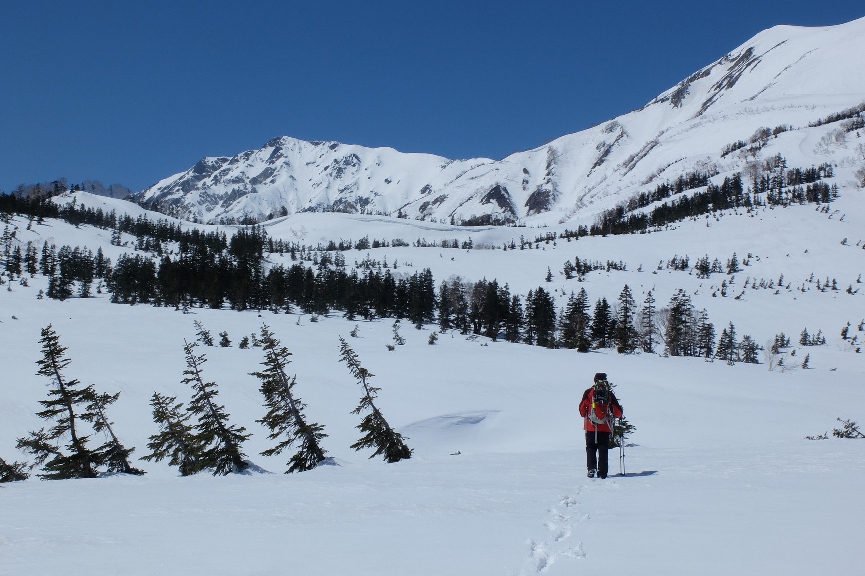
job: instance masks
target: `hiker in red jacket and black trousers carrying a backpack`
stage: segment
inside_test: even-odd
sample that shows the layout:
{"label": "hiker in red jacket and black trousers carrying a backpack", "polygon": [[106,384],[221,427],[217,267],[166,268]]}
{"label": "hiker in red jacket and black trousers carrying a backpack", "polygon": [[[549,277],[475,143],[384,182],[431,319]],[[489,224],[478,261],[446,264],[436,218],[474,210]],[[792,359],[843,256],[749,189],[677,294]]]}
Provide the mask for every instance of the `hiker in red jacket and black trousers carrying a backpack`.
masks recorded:
{"label": "hiker in red jacket and black trousers carrying a backpack", "polygon": [[589,477],[606,478],[610,465],[607,447],[612,433],[612,421],[622,417],[622,405],[606,381],[606,374],[595,374],[593,387],[583,393],[580,402],[580,416],[585,419],[586,467]]}

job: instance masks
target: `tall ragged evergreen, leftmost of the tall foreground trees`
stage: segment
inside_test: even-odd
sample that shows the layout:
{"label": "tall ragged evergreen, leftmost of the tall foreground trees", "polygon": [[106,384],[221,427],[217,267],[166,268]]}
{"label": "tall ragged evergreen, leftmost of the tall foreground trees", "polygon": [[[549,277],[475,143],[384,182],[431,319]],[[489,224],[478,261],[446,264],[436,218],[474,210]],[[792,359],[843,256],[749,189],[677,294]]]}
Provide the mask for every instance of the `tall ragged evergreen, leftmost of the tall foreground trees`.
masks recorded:
{"label": "tall ragged evergreen, leftmost of the tall foreground trees", "polygon": [[[48,400],[39,400],[45,407],[36,413],[42,419],[54,420],[48,431],[42,428],[30,432],[29,437],[18,438],[17,447],[28,451],[35,457],[35,465],[42,465],[46,473],[39,477],[45,480],[65,480],[67,478],[95,478],[96,469],[102,464],[98,451],[87,447],[89,436],[82,435],[79,420],[89,418],[89,413],[75,413],[76,408],[86,405],[93,398],[93,387],[79,388],[77,380],[67,380],[63,369],[71,362],[65,358],[67,348],[61,346],[60,336],[48,324],[42,329],[42,360],[37,361],[36,374],[51,379]],[[66,445],[68,453],[61,451],[61,438],[69,438]],[[50,458],[50,459],[48,459]]]}

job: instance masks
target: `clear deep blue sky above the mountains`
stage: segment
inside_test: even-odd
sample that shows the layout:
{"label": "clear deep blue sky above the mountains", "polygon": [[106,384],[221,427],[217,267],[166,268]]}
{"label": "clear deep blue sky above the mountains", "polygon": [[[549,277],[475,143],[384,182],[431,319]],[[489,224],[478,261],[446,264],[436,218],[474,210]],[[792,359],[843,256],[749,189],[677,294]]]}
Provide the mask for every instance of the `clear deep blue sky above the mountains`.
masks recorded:
{"label": "clear deep blue sky above the mountains", "polygon": [[785,2],[0,3],[0,189],[133,190],[270,138],[501,158],[642,106]]}

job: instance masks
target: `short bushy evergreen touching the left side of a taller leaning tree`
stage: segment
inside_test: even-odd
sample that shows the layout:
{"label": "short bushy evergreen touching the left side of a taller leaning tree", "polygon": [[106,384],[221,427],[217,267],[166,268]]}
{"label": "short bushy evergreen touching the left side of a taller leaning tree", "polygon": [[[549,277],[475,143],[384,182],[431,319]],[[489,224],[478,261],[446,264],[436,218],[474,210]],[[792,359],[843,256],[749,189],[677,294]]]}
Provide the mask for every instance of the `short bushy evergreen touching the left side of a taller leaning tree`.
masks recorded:
{"label": "short bushy evergreen touching the left side of a taller leaning tree", "polygon": [[142,460],[171,458],[170,466],[177,466],[181,476],[192,476],[202,470],[202,449],[199,438],[195,437],[194,426],[187,421],[192,414],[183,410],[183,402],[177,402],[176,396],[163,396],[153,393],[153,421],[159,425],[159,433],[151,436],[147,447],[151,453],[142,456]]}

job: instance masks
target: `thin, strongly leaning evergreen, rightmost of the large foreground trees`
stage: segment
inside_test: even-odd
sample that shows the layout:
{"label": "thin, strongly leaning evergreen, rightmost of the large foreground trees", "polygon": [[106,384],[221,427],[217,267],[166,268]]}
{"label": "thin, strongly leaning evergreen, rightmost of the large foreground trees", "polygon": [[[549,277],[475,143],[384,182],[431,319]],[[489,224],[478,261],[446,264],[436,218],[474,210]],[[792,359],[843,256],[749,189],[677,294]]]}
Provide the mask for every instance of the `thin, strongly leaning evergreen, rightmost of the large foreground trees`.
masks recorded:
{"label": "thin, strongly leaning evergreen, rightmost of the large foreground trees", "polygon": [[349,348],[349,342],[346,342],[343,337],[340,337],[339,342],[339,362],[345,362],[346,367],[349,368],[349,373],[363,387],[361,402],[351,413],[360,414],[368,410],[368,414],[356,426],[364,434],[351,447],[355,450],[375,447],[375,451],[369,458],[381,455],[388,464],[399,462],[402,458],[411,458],[412,450],[403,441],[400,432],[396,432],[391,428],[388,425],[388,421],[379,412],[379,409],[375,407],[373,400],[377,397],[380,388],[369,385],[369,379],[374,374],[361,366],[360,359],[355,354],[355,351]]}

